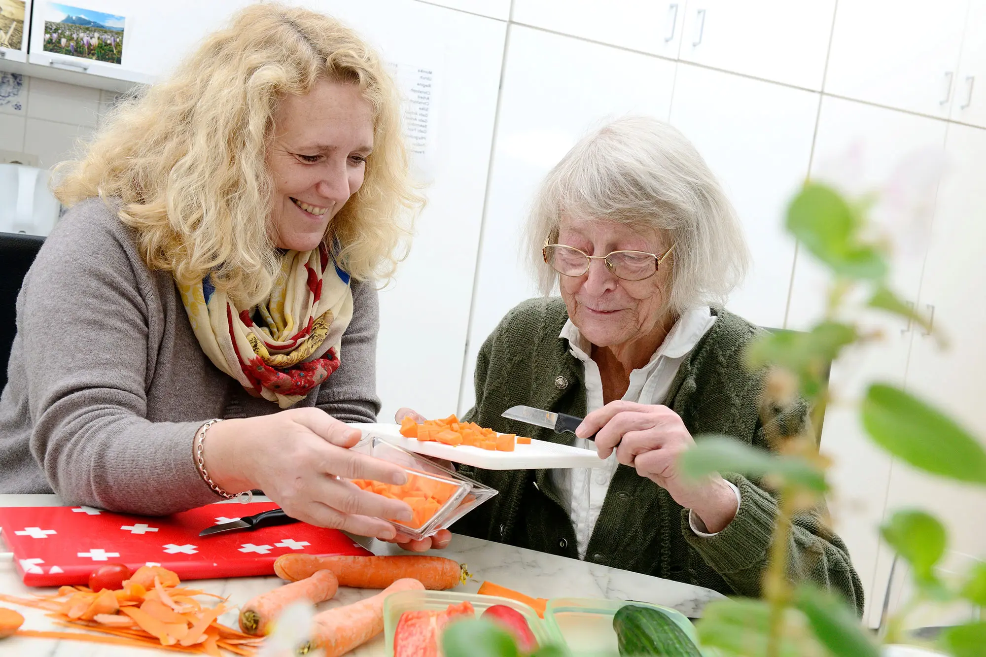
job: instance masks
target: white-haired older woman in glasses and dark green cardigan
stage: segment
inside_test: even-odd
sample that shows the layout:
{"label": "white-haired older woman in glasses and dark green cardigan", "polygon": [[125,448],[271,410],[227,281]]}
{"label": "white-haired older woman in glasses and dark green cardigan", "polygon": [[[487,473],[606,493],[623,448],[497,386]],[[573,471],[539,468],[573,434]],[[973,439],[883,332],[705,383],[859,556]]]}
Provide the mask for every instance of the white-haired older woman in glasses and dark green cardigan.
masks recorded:
{"label": "white-haired older woman in glasses and dark green cardigan", "polygon": [[[665,123],[625,118],[602,127],[542,184],[528,253],[545,294],[557,283],[561,298],[521,304],[486,339],[465,418],[564,442],[500,413],[526,404],[585,416],[575,442],[598,449],[604,463],[460,467],[500,494],[453,529],[758,596],[777,500],[741,475],[696,484],[675,469],[699,434],[769,447],[759,414],[764,372],[743,361],[762,331],[722,308],[747,252],[705,162]],[[766,421],[804,419],[799,404]],[[790,576],[837,590],[862,612],[859,577],[821,511],[795,519]]]}

